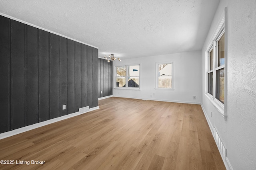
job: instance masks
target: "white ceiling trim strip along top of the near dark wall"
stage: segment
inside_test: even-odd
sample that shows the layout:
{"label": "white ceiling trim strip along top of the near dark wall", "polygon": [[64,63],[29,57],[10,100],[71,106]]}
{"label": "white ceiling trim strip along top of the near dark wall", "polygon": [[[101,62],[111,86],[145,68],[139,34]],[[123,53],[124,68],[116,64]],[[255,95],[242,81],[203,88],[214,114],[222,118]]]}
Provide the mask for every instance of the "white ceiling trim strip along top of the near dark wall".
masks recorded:
{"label": "white ceiling trim strip along top of the near dark wall", "polygon": [[76,42],[78,42],[78,43],[82,43],[82,44],[84,44],[84,45],[88,45],[88,46],[90,46],[90,47],[94,47],[94,48],[96,48],[96,49],[99,49],[99,47],[95,47],[95,46],[93,46],[93,45],[84,43],[84,42],[82,42],[82,41],[78,41],[78,40],[76,40],[76,39],[73,39],[73,38],[70,38],[70,37],[68,37],[68,36],[62,35],[62,34],[60,34],[60,33],[56,33],[56,32],[54,32],[54,31],[50,31],[50,30],[48,30],[48,29],[39,27],[39,26],[34,25],[34,24],[32,24],[32,23],[28,23],[28,22],[23,21],[23,20],[20,20],[20,19],[18,19],[18,18],[14,18],[14,17],[12,17],[12,16],[8,16],[8,15],[3,14],[3,13],[1,13],[1,12],[0,12],[0,15],[1,15],[1,16],[4,16],[4,17],[6,17],[6,18],[10,18],[10,19],[15,20],[15,21],[19,21],[19,22],[21,22],[21,23],[25,23],[25,24],[30,25],[30,26],[32,26],[32,27],[36,27],[36,28],[38,28],[38,29],[42,29],[42,30],[44,30],[44,31],[47,31],[47,32],[50,32],[50,33],[59,35],[59,36],[61,36],[61,37],[65,37],[65,38],[67,38],[67,39],[71,39],[71,40],[76,41]]}

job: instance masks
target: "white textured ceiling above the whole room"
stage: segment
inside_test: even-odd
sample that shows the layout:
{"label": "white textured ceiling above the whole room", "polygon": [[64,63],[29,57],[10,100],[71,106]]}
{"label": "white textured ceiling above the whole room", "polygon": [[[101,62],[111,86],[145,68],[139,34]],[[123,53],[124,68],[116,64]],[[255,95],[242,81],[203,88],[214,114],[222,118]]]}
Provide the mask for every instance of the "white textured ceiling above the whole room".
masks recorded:
{"label": "white textured ceiling above the whole room", "polygon": [[0,13],[122,59],[201,50],[220,0],[0,0]]}

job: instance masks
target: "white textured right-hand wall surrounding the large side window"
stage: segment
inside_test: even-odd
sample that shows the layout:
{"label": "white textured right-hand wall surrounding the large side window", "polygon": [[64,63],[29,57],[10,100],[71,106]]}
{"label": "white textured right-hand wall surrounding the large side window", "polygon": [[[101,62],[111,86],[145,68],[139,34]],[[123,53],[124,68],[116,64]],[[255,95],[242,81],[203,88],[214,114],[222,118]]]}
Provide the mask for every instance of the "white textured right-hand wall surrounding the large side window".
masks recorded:
{"label": "white textured right-hand wall surrounding the large side window", "polygon": [[[205,93],[205,51],[227,7],[225,109],[218,112]],[[202,48],[202,106],[211,128],[215,127],[227,148],[226,167],[256,169],[256,1],[221,0]],[[212,117],[211,117],[212,111]],[[228,165],[229,164],[229,165]]]}

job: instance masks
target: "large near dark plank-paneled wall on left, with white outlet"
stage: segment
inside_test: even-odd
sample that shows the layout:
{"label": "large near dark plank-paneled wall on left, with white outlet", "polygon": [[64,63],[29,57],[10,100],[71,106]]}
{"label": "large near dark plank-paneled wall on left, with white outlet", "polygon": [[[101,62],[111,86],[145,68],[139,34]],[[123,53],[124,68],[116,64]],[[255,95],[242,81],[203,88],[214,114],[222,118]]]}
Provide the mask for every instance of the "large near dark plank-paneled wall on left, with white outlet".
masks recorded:
{"label": "large near dark plank-paneled wall on left, with white outlet", "polygon": [[0,16],[0,133],[96,107],[97,93],[98,49]]}

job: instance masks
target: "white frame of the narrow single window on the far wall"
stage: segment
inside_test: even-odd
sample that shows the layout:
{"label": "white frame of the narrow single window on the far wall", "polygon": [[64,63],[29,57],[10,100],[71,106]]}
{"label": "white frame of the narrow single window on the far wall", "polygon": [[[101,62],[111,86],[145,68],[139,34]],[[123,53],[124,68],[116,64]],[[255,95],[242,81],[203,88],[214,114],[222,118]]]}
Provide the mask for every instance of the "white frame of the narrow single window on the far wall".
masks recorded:
{"label": "white frame of the narrow single window on the far wall", "polygon": [[[172,64],[172,88],[158,88],[158,64]],[[174,61],[162,61],[156,62],[156,70],[155,70],[155,89],[156,90],[174,90]]]}

